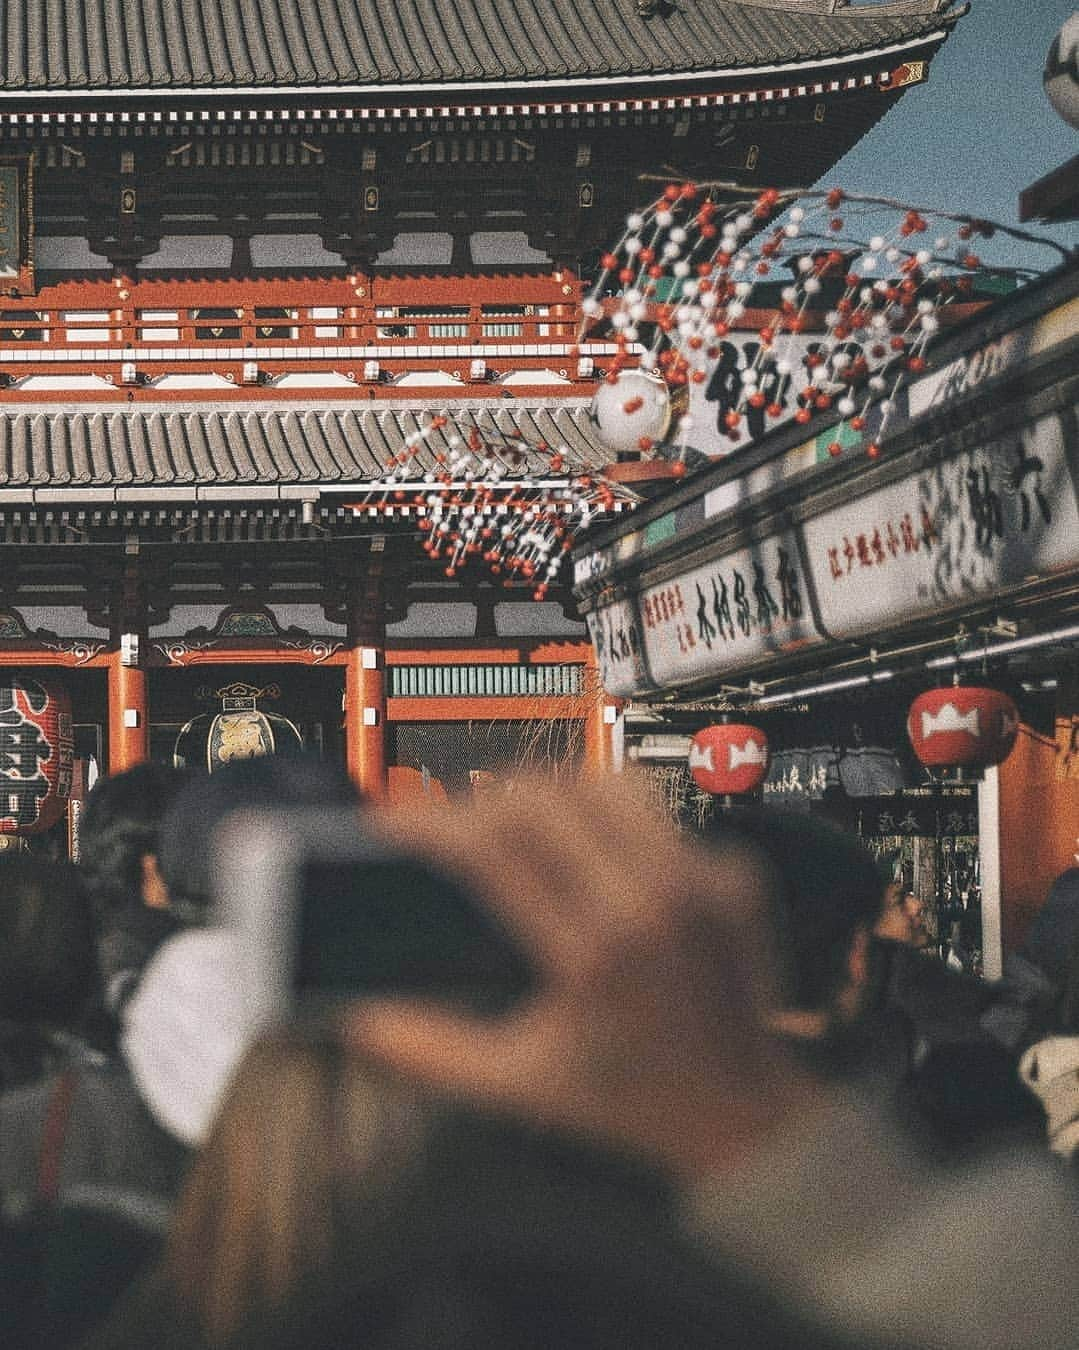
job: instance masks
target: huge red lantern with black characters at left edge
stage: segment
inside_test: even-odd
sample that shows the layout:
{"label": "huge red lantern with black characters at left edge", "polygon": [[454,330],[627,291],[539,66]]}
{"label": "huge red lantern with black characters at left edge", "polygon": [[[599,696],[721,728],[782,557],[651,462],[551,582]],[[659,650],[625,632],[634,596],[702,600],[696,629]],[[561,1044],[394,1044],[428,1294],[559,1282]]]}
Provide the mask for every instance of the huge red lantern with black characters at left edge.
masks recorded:
{"label": "huge red lantern with black characters at left edge", "polygon": [[72,703],[49,679],[0,675],[0,834],[38,834],[72,792]]}

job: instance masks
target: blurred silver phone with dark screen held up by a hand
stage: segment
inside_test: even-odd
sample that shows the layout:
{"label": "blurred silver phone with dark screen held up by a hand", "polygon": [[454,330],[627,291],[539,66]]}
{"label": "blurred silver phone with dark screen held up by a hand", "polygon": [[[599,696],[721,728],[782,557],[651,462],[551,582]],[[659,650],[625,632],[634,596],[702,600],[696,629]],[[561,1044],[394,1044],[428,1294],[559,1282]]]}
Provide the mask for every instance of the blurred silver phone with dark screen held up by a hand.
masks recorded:
{"label": "blurred silver phone with dark screen held up by a hand", "polygon": [[236,813],[216,849],[216,910],[240,936],[261,1015],[412,995],[498,1014],[533,972],[460,880],[401,853],[354,807]]}

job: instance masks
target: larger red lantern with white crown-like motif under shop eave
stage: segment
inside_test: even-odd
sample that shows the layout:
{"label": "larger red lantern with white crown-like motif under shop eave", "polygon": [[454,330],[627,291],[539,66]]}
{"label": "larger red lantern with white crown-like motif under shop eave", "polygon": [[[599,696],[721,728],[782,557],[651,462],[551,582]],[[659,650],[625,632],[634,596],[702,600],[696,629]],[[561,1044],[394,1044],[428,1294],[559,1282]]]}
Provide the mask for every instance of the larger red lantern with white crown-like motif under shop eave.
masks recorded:
{"label": "larger red lantern with white crown-like motif under shop eave", "polygon": [[930,688],[910,705],[906,729],[928,768],[999,764],[1020,729],[1016,705],[997,688]]}

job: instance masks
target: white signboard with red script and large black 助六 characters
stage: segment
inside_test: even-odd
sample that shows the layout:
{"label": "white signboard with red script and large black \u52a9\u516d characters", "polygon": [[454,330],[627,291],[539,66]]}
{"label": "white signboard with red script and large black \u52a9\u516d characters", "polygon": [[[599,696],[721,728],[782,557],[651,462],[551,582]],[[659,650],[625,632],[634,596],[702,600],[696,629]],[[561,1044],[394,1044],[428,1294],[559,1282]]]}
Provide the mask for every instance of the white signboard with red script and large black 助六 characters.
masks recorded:
{"label": "white signboard with red script and large black \u52a9\u516d characters", "polygon": [[856,637],[1079,566],[1057,416],[802,526],[821,622]]}

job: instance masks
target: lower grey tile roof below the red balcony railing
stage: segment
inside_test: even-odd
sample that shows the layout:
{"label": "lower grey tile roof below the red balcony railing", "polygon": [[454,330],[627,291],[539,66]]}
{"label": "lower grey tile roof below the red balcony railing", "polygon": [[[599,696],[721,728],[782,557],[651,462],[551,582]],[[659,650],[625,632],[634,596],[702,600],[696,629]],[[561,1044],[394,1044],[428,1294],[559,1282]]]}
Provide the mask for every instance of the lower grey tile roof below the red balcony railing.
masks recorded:
{"label": "lower grey tile roof below the red balcony railing", "polygon": [[[78,412],[0,412],[0,509],[24,498],[27,489],[55,493],[85,489],[286,487],[348,485],[382,479],[386,460],[405,447],[421,413],[385,404],[377,408],[298,408],[267,405],[236,409],[84,409]],[[424,423],[429,416],[423,416]],[[597,468],[610,460],[590,431],[589,405],[458,405],[450,425],[421,448],[424,468],[447,450],[446,436],[478,427],[490,444],[497,432],[529,444],[567,447],[566,473]],[[510,474],[542,473],[547,459],[524,466],[502,456]],[[550,477],[550,468],[547,468]],[[134,490],[134,491],[132,491]]]}

